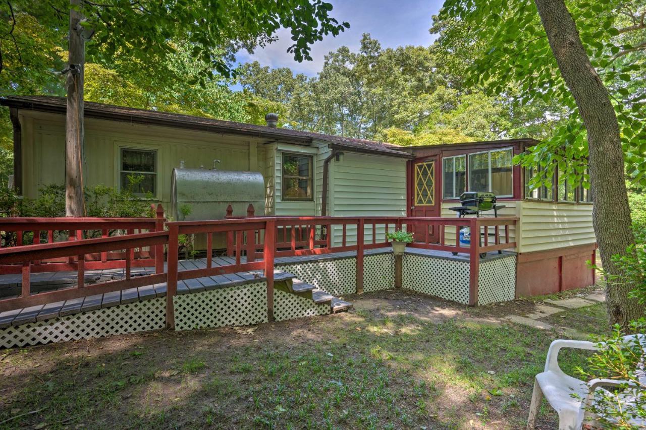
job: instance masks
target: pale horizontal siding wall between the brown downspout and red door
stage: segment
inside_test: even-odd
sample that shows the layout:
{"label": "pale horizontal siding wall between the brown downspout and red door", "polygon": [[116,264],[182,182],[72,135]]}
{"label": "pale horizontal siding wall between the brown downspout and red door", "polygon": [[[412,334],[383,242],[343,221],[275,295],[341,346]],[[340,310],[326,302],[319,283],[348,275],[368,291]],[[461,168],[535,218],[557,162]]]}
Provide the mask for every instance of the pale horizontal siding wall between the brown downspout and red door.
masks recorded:
{"label": "pale horizontal siding wall between the brown downspout and red door", "polygon": [[[330,163],[332,216],[406,216],[406,160],[346,152]],[[392,230],[393,227],[390,227]],[[376,241],[386,229],[377,225]],[[372,226],[364,240],[372,242]],[[333,243],[340,245],[342,227],[333,229]],[[346,244],[355,244],[357,228],[348,225]]]}

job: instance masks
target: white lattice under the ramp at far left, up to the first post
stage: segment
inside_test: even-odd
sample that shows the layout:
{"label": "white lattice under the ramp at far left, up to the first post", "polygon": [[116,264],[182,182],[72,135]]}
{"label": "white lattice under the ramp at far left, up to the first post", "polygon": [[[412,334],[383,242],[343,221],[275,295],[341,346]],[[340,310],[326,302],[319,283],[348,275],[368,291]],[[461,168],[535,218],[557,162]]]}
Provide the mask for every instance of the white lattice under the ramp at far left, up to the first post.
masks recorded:
{"label": "white lattice under the ramp at far left, up to the first post", "polygon": [[36,343],[102,338],[112,334],[163,329],[165,323],[166,300],[154,298],[6,327],[0,329],[0,346],[12,348]]}

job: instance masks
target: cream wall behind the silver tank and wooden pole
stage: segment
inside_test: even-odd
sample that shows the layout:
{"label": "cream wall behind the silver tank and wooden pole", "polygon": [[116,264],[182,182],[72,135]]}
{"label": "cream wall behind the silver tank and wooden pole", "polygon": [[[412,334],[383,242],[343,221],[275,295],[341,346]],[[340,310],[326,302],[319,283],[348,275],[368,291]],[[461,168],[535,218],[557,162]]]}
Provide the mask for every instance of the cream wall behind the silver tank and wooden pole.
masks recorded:
{"label": "cream wall behind the silver tank and wooden pole", "polygon": [[[32,111],[28,114],[23,117],[23,155],[29,160],[24,163],[26,174],[23,175],[23,183],[25,196],[36,198],[39,188],[64,181],[65,116]],[[84,185],[118,187],[120,147],[156,150],[158,190],[155,201],[170,209],[171,172],[179,167],[180,161],[184,161],[188,169],[200,165],[211,169],[213,160],[219,159],[217,169],[254,170],[267,179],[267,159],[262,143],[256,138],[220,133],[86,119]],[[250,156],[250,147],[256,151],[254,156]],[[224,215],[214,212],[213,218]]]}

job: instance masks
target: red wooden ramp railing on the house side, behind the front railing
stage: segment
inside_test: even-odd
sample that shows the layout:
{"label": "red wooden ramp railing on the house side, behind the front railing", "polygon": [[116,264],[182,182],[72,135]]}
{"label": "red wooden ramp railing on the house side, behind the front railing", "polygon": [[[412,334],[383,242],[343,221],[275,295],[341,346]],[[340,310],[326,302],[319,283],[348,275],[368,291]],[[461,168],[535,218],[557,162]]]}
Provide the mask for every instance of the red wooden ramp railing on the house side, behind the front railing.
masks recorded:
{"label": "red wooden ramp railing on the house side, behind the front railing", "polygon": [[[12,238],[15,243],[5,243],[7,247],[22,247],[39,243],[61,243],[56,241],[79,241],[88,238],[107,238],[110,235],[132,235],[146,230],[162,231],[164,225],[163,207],[152,207],[155,218],[0,218],[0,232],[6,238]],[[32,234],[28,234],[32,233]],[[43,236],[45,240],[43,241]],[[28,243],[27,239],[28,238]],[[5,240],[6,242],[6,240]],[[79,269],[123,269],[130,261],[133,267],[151,267],[161,261],[163,264],[163,246],[136,247],[129,250],[126,256],[123,251],[97,252],[86,254],[83,260],[78,256],[54,258],[46,256],[43,260],[31,263],[31,272],[77,271]],[[21,273],[19,265],[2,264],[0,274]]]}

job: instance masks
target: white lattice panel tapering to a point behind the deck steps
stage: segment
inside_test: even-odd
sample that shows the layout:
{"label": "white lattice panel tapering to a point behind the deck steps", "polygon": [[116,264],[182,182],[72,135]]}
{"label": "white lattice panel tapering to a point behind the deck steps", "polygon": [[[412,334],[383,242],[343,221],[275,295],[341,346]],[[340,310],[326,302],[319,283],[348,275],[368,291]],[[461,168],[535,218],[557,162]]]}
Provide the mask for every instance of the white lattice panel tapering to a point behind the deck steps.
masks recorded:
{"label": "white lattice panel tapering to a point behind the deck steps", "polygon": [[301,281],[333,296],[357,292],[357,259],[354,257],[305,261],[276,266],[276,269],[294,274]]}

